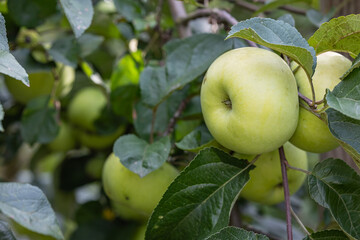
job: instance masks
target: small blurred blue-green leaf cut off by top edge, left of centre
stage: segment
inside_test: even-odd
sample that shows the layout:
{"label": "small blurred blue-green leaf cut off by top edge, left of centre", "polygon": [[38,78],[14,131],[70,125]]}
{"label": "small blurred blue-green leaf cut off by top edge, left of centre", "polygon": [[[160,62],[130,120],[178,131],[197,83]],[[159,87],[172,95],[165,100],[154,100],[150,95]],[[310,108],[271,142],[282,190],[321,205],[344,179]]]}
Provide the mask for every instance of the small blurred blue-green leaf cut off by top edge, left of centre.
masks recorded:
{"label": "small blurred blue-green leaf cut off by top edge, left of centre", "polygon": [[128,21],[142,18],[144,9],[139,0],[114,0],[116,10]]}

